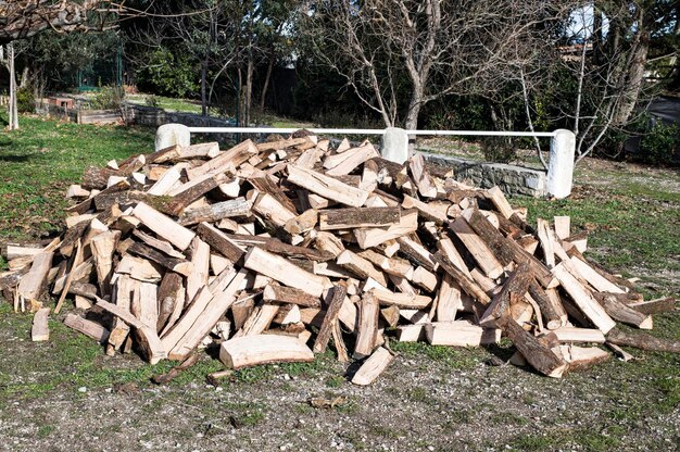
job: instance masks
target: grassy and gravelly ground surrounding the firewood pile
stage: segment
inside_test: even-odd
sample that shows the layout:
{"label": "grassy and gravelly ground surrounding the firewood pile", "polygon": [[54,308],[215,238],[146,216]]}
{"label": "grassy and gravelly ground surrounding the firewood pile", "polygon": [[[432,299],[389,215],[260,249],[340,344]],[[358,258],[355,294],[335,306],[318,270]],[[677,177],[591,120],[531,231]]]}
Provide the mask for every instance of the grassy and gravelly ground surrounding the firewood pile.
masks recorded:
{"label": "grassy and gravelly ground surrounding the firewood pile", "polygon": [[[22,116],[0,134],[0,244],[62,228],[64,192],[89,164],[150,152],[153,130],[84,126]],[[640,276],[646,298],[677,296],[680,177],[669,170],[585,161],[574,196],[513,198],[529,217],[570,215],[591,231],[589,255]],[[0,261],[0,269],[3,262]],[[71,310],[71,307],[68,307]],[[310,364],[237,372],[217,387],[210,356],[167,387],[167,371],[135,354],[106,356],[93,341],[50,319],[51,339],[29,340],[30,316],[0,299],[0,450],[677,450],[680,357],[630,350],[562,380],[511,365],[489,366],[484,349],[393,344],[375,385],[357,388],[327,352]],[[680,338],[678,313],[652,334]],[[503,353],[508,353],[507,343]],[[312,398],[343,402],[315,409]],[[48,448],[49,449],[49,448]]]}

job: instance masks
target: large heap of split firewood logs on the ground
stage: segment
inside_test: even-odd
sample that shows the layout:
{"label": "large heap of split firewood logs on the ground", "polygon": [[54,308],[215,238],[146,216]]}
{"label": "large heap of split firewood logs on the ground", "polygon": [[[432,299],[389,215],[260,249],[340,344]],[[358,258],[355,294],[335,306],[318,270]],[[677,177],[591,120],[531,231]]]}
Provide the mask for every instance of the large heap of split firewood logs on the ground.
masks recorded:
{"label": "large heap of split firewood logs on the ground", "polygon": [[[515,364],[550,377],[605,361],[608,346],[679,351],[652,328],[675,300],[643,301],[630,280],[582,253],[569,217],[526,222],[498,187],[455,181],[416,154],[401,165],[364,141],[302,130],[268,142],[171,147],[90,167],[68,189],[66,230],[46,247],[8,246],[0,288],[15,310],[48,316],[151,364],[219,347],[234,369],[365,360],[390,341],[479,347],[507,337]],[[56,298],[51,305],[49,296]]]}

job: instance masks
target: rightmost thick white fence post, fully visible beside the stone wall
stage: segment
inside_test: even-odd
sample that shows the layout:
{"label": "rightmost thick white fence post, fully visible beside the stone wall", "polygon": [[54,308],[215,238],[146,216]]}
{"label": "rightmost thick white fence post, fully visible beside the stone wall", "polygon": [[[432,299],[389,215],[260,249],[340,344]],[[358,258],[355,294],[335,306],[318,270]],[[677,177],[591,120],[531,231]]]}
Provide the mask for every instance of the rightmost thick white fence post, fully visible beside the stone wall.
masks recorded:
{"label": "rightmost thick white fence post, fully visible beside the stone wall", "polygon": [[571,194],[575,152],[576,135],[571,130],[564,128],[555,130],[555,136],[550,143],[547,194],[556,199],[563,199]]}

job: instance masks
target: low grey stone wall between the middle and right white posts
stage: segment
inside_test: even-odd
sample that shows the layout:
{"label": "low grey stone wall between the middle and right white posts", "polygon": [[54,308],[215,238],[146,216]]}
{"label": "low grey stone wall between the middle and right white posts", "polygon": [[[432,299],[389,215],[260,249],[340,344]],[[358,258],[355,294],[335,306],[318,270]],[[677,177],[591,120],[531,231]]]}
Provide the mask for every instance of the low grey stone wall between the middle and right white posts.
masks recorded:
{"label": "low grey stone wall between the middle and right white posts", "polygon": [[537,198],[547,194],[544,171],[428,152],[423,152],[423,156],[427,162],[452,168],[456,180],[475,187],[499,186],[508,194]]}

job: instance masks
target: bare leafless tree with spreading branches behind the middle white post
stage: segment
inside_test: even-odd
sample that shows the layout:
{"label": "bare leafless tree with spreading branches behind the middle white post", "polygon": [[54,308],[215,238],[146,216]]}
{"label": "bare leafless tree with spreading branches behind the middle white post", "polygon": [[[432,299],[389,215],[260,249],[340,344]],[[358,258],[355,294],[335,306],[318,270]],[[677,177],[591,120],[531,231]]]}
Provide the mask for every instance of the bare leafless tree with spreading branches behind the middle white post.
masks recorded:
{"label": "bare leafless tree with spreading branches behind the middle white post", "polygon": [[498,85],[488,81],[552,3],[327,0],[311,14],[307,36],[317,56],[387,126],[412,129],[428,102]]}

